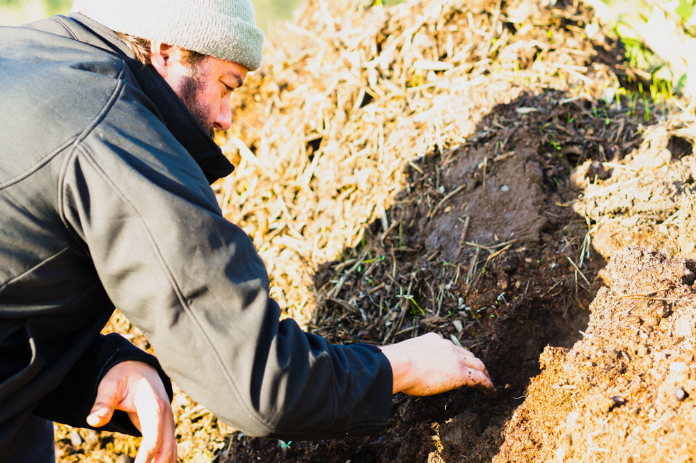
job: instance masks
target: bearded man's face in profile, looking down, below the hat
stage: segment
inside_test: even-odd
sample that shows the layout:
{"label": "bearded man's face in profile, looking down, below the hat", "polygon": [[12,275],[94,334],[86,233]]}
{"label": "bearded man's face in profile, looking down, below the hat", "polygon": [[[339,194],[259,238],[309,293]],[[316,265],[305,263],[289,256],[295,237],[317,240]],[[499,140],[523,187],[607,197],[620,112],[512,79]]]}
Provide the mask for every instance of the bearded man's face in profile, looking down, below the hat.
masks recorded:
{"label": "bearded man's face in profile, looking down, below the hat", "polygon": [[242,86],[246,67],[207,56],[200,63],[172,64],[165,80],[189,108],[201,127],[213,136],[213,129],[227,130],[232,124],[230,97]]}

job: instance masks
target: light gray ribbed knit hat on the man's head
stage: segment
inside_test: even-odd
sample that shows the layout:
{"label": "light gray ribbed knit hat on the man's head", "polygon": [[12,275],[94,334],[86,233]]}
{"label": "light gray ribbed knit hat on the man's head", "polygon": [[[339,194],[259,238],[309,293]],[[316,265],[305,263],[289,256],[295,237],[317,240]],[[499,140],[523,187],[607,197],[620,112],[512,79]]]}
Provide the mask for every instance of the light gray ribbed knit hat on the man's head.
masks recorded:
{"label": "light gray ribbed knit hat on the man's head", "polygon": [[264,37],[251,0],[75,0],[72,10],[113,31],[198,51],[251,71],[261,65]]}

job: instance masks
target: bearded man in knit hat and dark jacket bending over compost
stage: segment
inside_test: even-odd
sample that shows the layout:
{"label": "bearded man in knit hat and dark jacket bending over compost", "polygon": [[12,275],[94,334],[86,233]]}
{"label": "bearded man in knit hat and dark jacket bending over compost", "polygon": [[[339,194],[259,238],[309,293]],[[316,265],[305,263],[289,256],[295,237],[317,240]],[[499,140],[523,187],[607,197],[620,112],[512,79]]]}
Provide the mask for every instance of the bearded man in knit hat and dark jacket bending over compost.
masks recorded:
{"label": "bearded man in knit hat and dark jacket bending over compost", "polygon": [[[250,0],[78,0],[0,28],[0,462],[49,461],[51,421],[141,432],[136,462],[175,462],[168,376],[282,439],[378,428],[399,391],[493,387],[436,334],[333,346],[279,321],[209,188],[262,42]],[[99,334],[114,307],[159,362]]]}

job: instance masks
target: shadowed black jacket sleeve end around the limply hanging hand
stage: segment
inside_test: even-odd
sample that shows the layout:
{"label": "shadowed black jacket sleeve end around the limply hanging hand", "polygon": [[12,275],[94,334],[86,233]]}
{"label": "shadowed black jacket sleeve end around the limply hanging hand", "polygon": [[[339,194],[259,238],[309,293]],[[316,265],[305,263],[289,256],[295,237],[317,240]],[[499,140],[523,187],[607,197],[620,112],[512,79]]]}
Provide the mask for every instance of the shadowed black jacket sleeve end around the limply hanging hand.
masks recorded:
{"label": "shadowed black jacket sleeve end around the limply hanging hand", "polygon": [[[157,359],[136,348],[119,334],[112,333],[100,335],[93,341],[61,385],[42,398],[33,413],[76,428],[89,428],[86,419],[97,398],[99,383],[113,366],[127,360],[137,360],[155,368],[164,383],[169,400],[173,398],[171,381]],[[113,414],[108,425],[99,429],[141,435],[128,414],[120,410]]]}

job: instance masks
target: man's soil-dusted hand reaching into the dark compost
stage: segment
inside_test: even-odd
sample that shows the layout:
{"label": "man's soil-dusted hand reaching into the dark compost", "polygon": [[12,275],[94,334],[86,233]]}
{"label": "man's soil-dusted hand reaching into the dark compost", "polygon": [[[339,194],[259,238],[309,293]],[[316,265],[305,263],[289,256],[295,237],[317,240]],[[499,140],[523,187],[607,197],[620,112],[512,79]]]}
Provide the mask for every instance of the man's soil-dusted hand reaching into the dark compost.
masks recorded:
{"label": "man's soil-dusted hand reaching into the dark compost", "polygon": [[381,347],[394,376],[393,392],[431,396],[461,386],[494,389],[486,366],[435,333]]}

